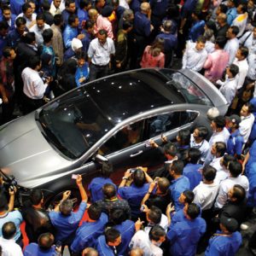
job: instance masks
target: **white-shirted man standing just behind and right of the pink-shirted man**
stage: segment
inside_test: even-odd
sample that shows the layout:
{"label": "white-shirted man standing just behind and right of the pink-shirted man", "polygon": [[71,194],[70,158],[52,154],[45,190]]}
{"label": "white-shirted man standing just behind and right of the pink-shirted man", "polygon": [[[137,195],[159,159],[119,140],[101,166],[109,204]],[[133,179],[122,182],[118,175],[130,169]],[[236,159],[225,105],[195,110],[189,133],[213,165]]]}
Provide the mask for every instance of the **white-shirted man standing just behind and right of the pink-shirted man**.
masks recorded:
{"label": "white-shirted man standing just behind and right of the pink-shirted man", "polygon": [[230,55],[229,65],[233,63],[236,57],[237,49],[239,48],[239,41],[236,38],[239,33],[238,26],[230,26],[227,31],[226,37],[228,38],[228,42],[224,47],[224,50]]}

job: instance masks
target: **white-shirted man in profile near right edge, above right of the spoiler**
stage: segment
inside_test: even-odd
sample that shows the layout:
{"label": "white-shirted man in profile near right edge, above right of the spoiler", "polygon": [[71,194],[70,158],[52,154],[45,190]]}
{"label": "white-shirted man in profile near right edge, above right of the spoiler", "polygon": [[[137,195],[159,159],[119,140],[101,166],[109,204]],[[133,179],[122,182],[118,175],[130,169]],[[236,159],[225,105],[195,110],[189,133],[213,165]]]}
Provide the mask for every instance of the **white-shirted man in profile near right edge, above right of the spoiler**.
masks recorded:
{"label": "white-shirted man in profile near right edge, above right of the spoiler", "polygon": [[244,81],[247,77],[247,72],[249,69],[248,62],[247,62],[247,55],[249,50],[245,46],[240,46],[236,52],[236,58],[233,64],[239,67],[239,73],[236,75],[237,80],[237,88],[236,90],[241,89]]}

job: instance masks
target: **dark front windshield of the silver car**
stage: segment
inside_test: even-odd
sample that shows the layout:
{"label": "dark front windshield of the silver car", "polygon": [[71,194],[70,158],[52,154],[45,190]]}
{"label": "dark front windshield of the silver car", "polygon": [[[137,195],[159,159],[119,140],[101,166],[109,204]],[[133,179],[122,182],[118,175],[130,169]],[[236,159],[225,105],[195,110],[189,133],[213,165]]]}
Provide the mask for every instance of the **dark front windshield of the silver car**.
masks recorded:
{"label": "dark front windshield of the silver car", "polygon": [[84,87],[41,110],[38,121],[46,139],[71,159],[79,158],[113,128]]}

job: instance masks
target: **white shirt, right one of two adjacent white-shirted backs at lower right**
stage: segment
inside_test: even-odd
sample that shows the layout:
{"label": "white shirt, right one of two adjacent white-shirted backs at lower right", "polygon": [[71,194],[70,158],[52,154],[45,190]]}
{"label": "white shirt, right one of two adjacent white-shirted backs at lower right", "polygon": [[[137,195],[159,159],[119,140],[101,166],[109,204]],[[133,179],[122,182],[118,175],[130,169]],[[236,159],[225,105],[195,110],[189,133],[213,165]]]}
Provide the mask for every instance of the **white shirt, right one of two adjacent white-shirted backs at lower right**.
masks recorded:
{"label": "white shirt, right one of two adjacent white-shirted backs at lower right", "polygon": [[228,192],[234,187],[234,185],[239,184],[246,190],[248,195],[249,182],[246,176],[239,175],[238,177],[229,177],[222,181],[219,185],[218,196],[214,204],[217,208],[224,207],[226,201],[228,201]]}

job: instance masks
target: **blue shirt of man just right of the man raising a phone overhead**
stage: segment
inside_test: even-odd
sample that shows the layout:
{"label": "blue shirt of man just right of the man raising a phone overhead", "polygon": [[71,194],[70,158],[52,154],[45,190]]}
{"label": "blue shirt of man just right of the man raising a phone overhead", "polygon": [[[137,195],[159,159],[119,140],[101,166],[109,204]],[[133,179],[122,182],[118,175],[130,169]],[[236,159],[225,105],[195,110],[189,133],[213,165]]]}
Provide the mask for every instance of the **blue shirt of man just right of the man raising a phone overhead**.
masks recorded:
{"label": "blue shirt of man just right of the man raising a phone overhead", "polygon": [[80,253],[86,247],[95,247],[96,239],[104,232],[105,224],[107,224],[107,222],[108,216],[103,212],[96,222],[83,222],[77,230],[71,245],[72,251],[74,253]]}

